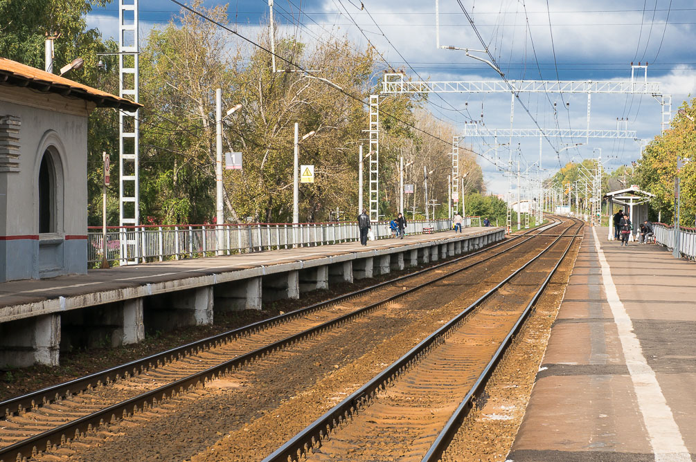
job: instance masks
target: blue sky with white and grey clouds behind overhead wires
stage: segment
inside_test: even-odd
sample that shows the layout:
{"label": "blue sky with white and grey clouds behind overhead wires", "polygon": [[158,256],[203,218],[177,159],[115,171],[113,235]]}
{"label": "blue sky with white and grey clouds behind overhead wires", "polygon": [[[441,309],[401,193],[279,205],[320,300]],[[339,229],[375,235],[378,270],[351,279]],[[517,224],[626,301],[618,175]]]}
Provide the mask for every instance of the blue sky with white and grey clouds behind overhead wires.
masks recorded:
{"label": "blue sky with white and grey clouds behind overhead wires", "polygon": [[[478,33],[507,79],[626,81],[631,79],[631,62],[647,61],[648,81],[660,83],[661,92],[672,95],[672,113],[696,94],[696,4],[692,0],[461,0],[475,28],[459,3],[440,0],[441,44],[482,49]],[[206,6],[217,4],[225,3],[205,1]],[[268,14],[268,0],[226,4],[230,24],[250,34]],[[116,38],[117,8],[114,1],[94,10],[88,24]],[[141,0],[141,37],[155,24],[176,20],[179,11],[180,6],[171,0]],[[275,0],[274,15],[283,25],[280,33],[298,33],[306,42],[328,34],[347,34],[358,47],[365,47],[369,40],[390,65],[405,69],[413,80],[502,81],[489,65],[464,51],[436,49],[435,0]],[[482,120],[488,129],[510,127],[509,94],[448,93],[432,95],[430,101],[436,117],[461,129],[471,120]],[[587,96],[523,93],[516,101],[512,123],[516,129],[536,124],[544,129],[585,129]],[[594,94],[590,129],[617,129],[617,124],[622,129],[627,124],[640,139],[651,139],[660,131],[661,106],[648,95]],[[494,165],[494,151],[484,141],[492,142],[475,138],[465,142],[481,154],[488,151],[479,162],[487,187],[503,193],[507,178]],[[596,157],[595,148],[601,148],[608,170],[640,156],[640,142],[635,140],[585,141],[551,138],[550,144],[543,140],[544,176],[568,160]],[[580,142],[583,145],[555,152]],[[512,147],[514,161],[522,160],[522,170],[538,163],[539,138],[513,138]],[[508,147],[500,147],[498,156],[507,168]]]}

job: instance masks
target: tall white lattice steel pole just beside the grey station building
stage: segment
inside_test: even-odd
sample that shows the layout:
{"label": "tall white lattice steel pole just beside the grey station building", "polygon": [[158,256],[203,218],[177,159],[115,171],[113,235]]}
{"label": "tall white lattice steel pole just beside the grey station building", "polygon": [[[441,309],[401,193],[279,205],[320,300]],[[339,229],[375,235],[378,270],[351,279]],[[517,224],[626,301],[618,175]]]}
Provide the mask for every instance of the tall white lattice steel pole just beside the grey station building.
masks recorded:
{"label": "tall white lattice steel pole just beside the grey station building", "polygon": [[[118,81],[122,98],[139,101],[139,0],[118,1]],[[139,111],[118,113],[118,224],[138,226],[140,222],[139,189]],[[126,234],[122,236],[127,236]],[[137,234],[135,234],[137,236]],[[138,263],[137,237],[134,240],[120,239],[120,263]]]}

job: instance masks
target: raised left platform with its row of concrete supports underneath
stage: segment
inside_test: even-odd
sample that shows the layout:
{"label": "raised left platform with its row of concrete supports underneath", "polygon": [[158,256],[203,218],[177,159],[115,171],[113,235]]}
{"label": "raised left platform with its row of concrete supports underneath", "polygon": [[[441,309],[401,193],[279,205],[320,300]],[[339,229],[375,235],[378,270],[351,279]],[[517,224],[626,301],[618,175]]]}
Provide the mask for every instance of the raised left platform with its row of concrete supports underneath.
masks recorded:
{"label": "raised left platform with its row of concrete supports underneath", "polygon": [[[193,258],[0,283],[0,368],[57,364],[58,352],[136,343],[145,328],[211,324],[216,311],[260,309],[331,283],[467,253],[504,238],[467,228],[368,242]],[[62,335],[61,335],[62,334]]]}

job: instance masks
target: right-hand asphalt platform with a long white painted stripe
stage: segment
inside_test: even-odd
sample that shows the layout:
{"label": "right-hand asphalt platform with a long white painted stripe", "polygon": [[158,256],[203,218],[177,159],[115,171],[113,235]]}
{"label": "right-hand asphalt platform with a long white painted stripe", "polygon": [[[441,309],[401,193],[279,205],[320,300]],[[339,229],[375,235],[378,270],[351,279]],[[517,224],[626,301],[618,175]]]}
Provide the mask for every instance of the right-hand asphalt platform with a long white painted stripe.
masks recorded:
{"label": "right-hand asphalt platform with a long white painted stripe", "polygon": [[590,228],[514,462],[696,461],[696,265]]}

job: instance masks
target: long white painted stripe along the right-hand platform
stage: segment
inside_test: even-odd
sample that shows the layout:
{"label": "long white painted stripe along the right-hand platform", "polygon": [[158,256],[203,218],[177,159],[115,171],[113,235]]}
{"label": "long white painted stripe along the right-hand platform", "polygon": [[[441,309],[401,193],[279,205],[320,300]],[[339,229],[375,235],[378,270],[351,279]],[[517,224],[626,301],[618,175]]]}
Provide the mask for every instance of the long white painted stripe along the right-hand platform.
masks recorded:
{"label": "long white painted stripe along the right-hand platform", "polygon": [[607,302],[614,316],[628,373],[631,374],[631,381],[633,381],[635,397],[638,399],[638,407],[643,415],[650,445],[655,453],[655,461],[690,462],[691,456],[684,445],[677,422],[674,421],[672,409],[667,405],[655,371],[652,370],[643,355],[640,341],[633,332],[631,317],[626,313],[626,308],[619,298],[619,293],[611,276],[611,269],[599,246],[596,228],[592,228],[592,234],[594,235],[594,248],[599,257]]}

